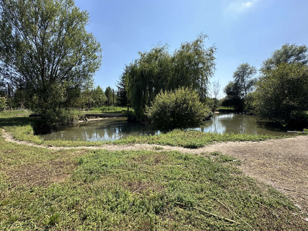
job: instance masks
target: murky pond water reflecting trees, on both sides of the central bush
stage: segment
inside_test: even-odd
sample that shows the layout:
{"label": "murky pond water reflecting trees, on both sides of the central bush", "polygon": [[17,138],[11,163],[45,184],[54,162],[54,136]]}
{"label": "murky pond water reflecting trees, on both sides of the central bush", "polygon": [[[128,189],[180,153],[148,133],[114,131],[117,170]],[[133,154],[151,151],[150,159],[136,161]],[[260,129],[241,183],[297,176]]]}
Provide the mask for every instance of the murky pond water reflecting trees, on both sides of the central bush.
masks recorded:
{"label": "murky pond water reflecting trees, on both sides of the central bush", "polygon": [[[215,133],[246,133],[246,134],[271,134],[296,135],[297,133],[282,131],[279,128],[271,128],[256,123],[253,115],[218,113],[212,120],[204,121],[197,128],[202,132]],[[159,132],[156,132],[159,133]],[[72,126],[58,129],[55,132],[41,135],[45,140],[119,140],[126,136],[139,136],[148,134],[148,131],[140,123],[128,123],[126,117],[106,118],[103,120],[90,120]]]}

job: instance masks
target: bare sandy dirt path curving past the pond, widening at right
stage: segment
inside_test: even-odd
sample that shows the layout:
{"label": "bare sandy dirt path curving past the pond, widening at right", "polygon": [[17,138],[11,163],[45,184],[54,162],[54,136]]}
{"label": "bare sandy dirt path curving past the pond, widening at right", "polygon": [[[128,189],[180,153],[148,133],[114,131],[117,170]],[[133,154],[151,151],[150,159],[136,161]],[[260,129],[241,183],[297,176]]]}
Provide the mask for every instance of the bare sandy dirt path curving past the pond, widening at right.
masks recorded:
{"label": "bare sandy dirt path curving past the pond, widening at right", "polygon": [[[72,149],[75,147],[47,147],[26,141],[14,140],[2,130],[6,141],[50,149]],[[301,216],[308,216],[308,136],[295,136],[286,139],[273,139],[260,142],[226,142],[207,145],[203,148],[161,146],[156,144],[104,144],[101,146],[82,146],[84,149],[115,150],[155,150],[180,151],[201,154],[220,151],[242,161],[240,168],[249,176],[271,184],[285,193],[296,206],[301,208]],[[308,219],[307,219],[308,221]]]}

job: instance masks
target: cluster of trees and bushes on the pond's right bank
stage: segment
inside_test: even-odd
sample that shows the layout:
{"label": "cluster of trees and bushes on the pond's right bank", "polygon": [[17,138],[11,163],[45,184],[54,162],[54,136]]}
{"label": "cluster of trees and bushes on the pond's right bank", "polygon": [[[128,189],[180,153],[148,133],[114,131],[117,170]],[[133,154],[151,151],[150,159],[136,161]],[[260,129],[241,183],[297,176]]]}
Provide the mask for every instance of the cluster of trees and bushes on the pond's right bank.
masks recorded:
{"label": "cluster of trees and bushes on the pond's right bank", "polygon": [[308,48],[286,43],[259,69],[240,64],[224,88],[223,106],[283,125],[307,124]]}

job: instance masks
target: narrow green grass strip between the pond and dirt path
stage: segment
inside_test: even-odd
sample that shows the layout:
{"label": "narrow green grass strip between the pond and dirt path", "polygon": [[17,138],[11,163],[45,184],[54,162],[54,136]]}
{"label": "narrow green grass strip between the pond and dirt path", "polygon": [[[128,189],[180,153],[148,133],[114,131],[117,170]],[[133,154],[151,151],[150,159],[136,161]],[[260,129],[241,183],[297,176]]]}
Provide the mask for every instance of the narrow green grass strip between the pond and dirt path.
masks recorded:
{"label": "narrow green grass strip between the pond and dirt path", "polygon": [[[262,141],[268,139],[281,139],[292,136],[273,135],[248,135],[248,134],[217,134],[204,133],[200,131],[173,130],[168,133],[161,133],[154,136],[128,136],[115,141],[70,141],[70,140],[44,140],[40,136],[33,135],[32,127],[28,125],[9,126],[6,131],[18,140],[25,140],[35,144],[52,145],[56,147],[78,147],[78,146],[99,146],[103,144],[160,144],[180,146],[184,148],[201,148],[214,142],[227,141]],[[300,135],[300,134],[299,134]]]}

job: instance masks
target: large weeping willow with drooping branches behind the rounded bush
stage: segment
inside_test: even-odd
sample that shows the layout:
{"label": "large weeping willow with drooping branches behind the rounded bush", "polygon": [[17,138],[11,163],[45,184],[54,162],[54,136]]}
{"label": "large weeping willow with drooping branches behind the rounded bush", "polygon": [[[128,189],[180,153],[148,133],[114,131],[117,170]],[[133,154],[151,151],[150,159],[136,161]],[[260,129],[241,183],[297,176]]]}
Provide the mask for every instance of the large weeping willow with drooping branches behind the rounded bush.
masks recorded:
{"label": "large weeping willow with drooping branches behind the rounded bush", "polygon": [[145,107],[162,91],[179,87],[196,90],[201,101],[206,98],[206,86],[215,71],[216,47],[205,47],[206,34],[169,52],[168,44],[158,44],[150,51],[139,52],[139,59],[128,65],[125,81],[128,97],[137,119],[144,116]]}

